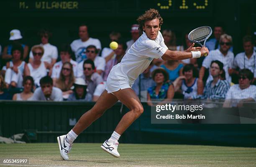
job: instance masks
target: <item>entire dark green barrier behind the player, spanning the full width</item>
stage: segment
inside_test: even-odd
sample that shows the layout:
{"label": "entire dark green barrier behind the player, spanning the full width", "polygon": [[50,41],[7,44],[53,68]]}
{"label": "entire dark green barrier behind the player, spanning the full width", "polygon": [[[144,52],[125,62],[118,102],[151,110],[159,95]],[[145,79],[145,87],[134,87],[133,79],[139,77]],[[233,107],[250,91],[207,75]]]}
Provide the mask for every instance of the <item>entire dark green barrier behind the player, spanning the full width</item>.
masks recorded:
{"label": "entire dark green barrier behind the player, spanning the full width", "polygon": [[[94,104],[0,101],[0,133],[10,137],[24,130],[36,130],[34,142],[56,142],[58,135],[72,129],[69,118],[78,121]],[[151,124],[150,107],[146,103],[143,106],[144,113],[122,135],[120,142],[256,147],[255,124]],[[117,103],[106,111],[76,142],[103,142],[110,137],[122,117],[120,108],[121,104]],[[125,112],[127,108],[123,109]]]}

